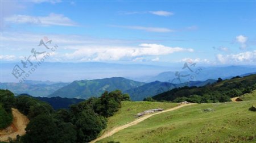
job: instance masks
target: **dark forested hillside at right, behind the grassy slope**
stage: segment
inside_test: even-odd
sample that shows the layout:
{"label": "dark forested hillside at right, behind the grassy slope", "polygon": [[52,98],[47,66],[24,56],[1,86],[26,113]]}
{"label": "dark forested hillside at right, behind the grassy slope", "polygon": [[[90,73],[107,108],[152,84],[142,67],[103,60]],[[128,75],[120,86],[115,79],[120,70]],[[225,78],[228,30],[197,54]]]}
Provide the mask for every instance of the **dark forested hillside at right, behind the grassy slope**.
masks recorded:
{"label": "dark forested hillside at right, behind the grassy slope", "polygon": [[172,102],[211,103],[228,102],[230,98],[241,96],[256,89],[256,74],[246,77],[234,77],[222,81],[218,79],[217,83],[203,87],[180,87],[172,89],[162,94],[153,96],[155,100],[168,100]]}

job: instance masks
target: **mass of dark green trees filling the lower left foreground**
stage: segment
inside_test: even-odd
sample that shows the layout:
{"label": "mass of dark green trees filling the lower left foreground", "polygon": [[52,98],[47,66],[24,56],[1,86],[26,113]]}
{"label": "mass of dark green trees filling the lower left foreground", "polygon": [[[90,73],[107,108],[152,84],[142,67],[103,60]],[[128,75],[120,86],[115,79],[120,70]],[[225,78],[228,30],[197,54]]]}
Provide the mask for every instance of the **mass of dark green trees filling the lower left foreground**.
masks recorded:
{"label": "mass of dark green trees filling the lower left foreground", "polygon": [[105,91],[99,98],[89,98],[68,109],[53,110],[46,102],[31,96],[15,97],[9,90],[0,91],[6,111],[17,108],[30,119],[26,134],[10,142],[89,142],[106,128],[107,117],[121,108],[130,96],[116,90]]}

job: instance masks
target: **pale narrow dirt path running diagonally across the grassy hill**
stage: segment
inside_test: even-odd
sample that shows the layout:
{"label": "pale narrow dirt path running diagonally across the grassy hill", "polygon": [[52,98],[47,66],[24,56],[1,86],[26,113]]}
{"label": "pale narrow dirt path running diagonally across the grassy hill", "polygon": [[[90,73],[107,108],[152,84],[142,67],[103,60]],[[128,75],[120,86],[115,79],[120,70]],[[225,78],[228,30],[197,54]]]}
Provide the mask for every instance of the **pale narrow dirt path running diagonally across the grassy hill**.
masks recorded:
{"label": "pale narrow dirt path running diagonally across the grassy hill", "polygon": [[114,129],[112,129],[112,131],[103,134],[101,137],[98,137],[98,138],[96,138],[95,140],[91,141],[91,143],[94,143],[94,142],[99,141],[99,140],[101,140],[101,139],[103,139],[103,138],[112,136],[114,133],[117,133],[117,132],[121,131],[122,129],[128,128],[128,127],[130,127],[130,126],[132,126],[132,125],[136,125],[136,124],[138,124],[138,123],[140,123],[140,122],[142,122],[142,121],[148,119],[148,118],[151,117],[151,116],[158,115],[159,113],[174,111],[174,110],[177,110],[177,109],[179,109],[179,108],[181,108],[181,107],[190,106],[190,105],[192,105],[192,104],[195,104],[195,103],[180,104],[179,106],[176,106],[176,107],[174,107],[174,108],[170,108],[170,109],[168,109],[168,110],[164,110],[164,111],[162,111],[162,112],[156,112],[156,113],[152,113],[152,114],[149,114],[149,115],[144,115],[144,116],[142,116],[141,118],[139,118],[139,119],[137,119],[137,120],[135,120],[135,121],[132,121],[131,123],[128,123],[128,124],[125,124],[125,125],[122,125],[122,126],[119,126],[119,127],[116,127],[116,128],[114,128]]}

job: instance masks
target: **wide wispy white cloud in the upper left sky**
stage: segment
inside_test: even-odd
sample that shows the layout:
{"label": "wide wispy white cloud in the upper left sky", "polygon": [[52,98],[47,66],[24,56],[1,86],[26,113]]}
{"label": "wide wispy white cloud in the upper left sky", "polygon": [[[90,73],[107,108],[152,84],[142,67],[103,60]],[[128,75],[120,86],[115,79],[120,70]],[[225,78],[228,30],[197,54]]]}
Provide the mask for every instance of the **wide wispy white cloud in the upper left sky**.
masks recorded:
{"label": "wide wispy white cloud in the upper left sky", "polygon": [[35,24],[38,26],[76,26],[71,19],[61,14],[51,13],[48,16],[12,15],[5,18],[5,22],[18,24]]}

